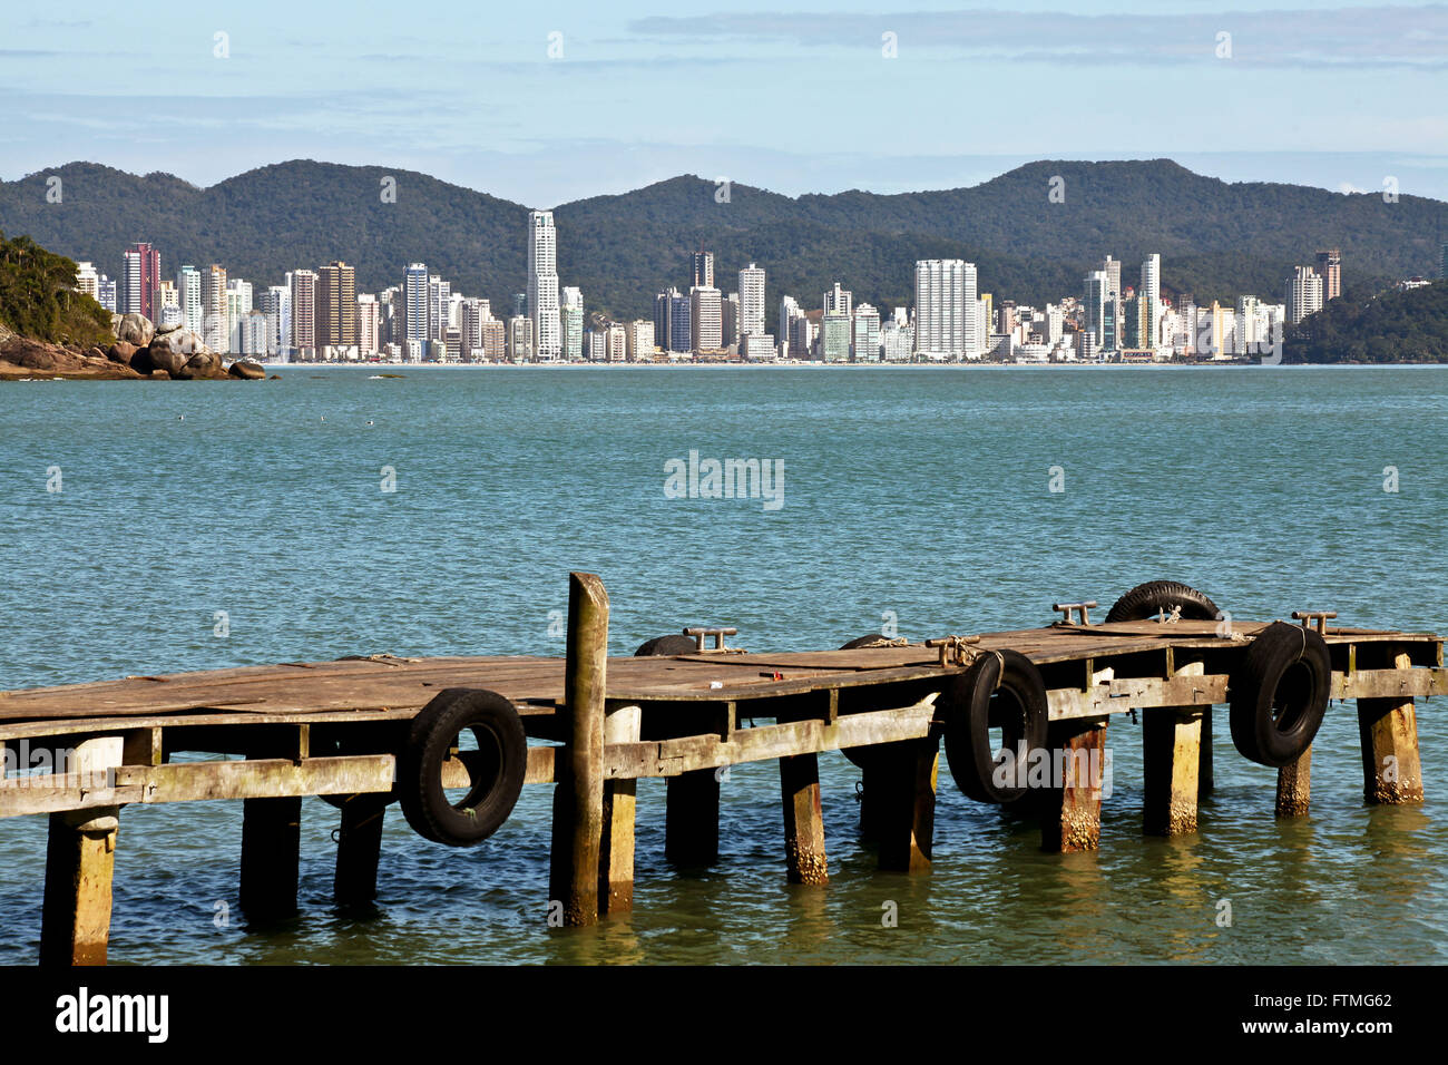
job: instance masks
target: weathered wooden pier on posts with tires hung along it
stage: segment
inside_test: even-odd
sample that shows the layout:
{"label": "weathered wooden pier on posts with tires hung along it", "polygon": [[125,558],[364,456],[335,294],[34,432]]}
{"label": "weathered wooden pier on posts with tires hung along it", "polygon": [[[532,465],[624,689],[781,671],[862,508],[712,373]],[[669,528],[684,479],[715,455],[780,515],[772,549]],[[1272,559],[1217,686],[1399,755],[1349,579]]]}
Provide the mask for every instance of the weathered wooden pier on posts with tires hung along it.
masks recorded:
{"label": "weathered wooden pier on posts with tires hung along it", "polygon": [[[0,693],[0,751],[20,768],[0,817],[49,817],[41,961],[80,965],[106,961],[133,803],[242,800],[240,904],[265,922],[297,907],[304,795],[340,807],[336,898],[355,904],[376,894],[394,800],[424,838],[471,845],[524,784],[555,784],[549,922],[576,926],[633,906],[636,781],[668,778],[668,858],[707,865],[718,774],[740,762],[779,762],[782,872],[798,884],[828,880],[822,751],[862,767],[879,865],[905,872],[931,864],[943,740],[967,795],[1038,817],[1048,851],[1096,848],[1106,732],[1128,711],[1142,714],[1145,833],[1196,830],[1224,706],[1238,749],[1279,769],[1277,816],[1309,810],[1329,698],[1357,701],[1365,801],[1422,801],[1415,704],[1448,693],[1439,636],[1329,627],[1331,613],[1224,623],[1138,591],[1114,610],[1131,620],[1058,604],[1054,625],[925,643],[744,653],[705,630],[718,646],[701,633],[608,658],[608,596],[573,574],[565,658],[375,655]],[[54,772],[26,772],[38,761]]]}

